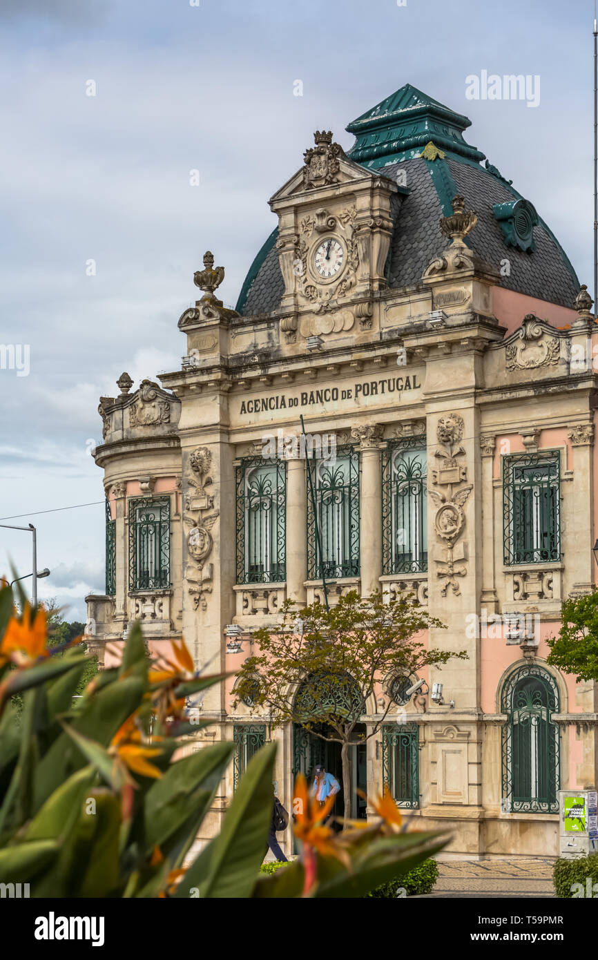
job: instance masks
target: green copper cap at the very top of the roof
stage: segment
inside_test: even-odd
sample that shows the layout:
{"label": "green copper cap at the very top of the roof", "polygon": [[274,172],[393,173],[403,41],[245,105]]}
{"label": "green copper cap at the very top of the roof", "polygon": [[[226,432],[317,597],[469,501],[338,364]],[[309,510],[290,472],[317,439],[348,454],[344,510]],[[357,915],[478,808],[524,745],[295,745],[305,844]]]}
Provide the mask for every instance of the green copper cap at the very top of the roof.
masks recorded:
{"label": "green copper cap at the very top of the roof", "polygon": [[479,162],[486,155],[463,138],[470,126],[471,121],[462,113],[405,84],[349,123],[347,132],[354,133],[356,142],[348,156],[365,167],[384,167],[420,156],[432,142],[448,154]]}

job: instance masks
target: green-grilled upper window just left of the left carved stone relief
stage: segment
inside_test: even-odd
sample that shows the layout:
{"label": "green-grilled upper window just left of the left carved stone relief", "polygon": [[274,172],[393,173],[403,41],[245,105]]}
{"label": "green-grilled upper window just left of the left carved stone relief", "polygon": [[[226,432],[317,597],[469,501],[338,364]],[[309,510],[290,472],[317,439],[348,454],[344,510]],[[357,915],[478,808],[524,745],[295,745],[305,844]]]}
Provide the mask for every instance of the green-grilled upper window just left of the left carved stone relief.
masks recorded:
{"label": "green-grilled upper window just left of the left carved stone relief", "polygon": [[170,497],[129,501],[129,588],[170,587]]}

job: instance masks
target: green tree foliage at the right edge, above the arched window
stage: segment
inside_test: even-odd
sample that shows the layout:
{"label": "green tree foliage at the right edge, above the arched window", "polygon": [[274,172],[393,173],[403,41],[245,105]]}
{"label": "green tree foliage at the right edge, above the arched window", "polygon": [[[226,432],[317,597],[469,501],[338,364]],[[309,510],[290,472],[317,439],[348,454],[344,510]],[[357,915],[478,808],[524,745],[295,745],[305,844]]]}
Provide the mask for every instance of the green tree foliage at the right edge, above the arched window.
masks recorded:
{"label": "green tree foliage at the right edge, above the arched window", "polygon": [[576,681],[598,681],[598,590],[562,601],[559,636],[546,642],[546,662],[562,673],[576,674]]}

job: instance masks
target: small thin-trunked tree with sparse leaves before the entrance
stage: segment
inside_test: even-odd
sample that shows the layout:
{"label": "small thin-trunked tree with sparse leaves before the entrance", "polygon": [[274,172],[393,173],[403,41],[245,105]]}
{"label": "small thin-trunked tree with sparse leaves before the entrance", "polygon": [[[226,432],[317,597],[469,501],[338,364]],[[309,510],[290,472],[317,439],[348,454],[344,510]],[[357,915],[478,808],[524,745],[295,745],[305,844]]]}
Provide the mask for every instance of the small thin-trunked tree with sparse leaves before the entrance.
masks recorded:
{"label": "small thin-trunked tree with sparse leaves before the entrance", "polygon": [[259,652],[242,665],[235,703],[266,709],[273,725],[296,723],[324,741],[341,744],[345,819],[350,817],[349,756],[353,746],[377,733],[393,708],[390,697],[365,734],[355,728],[380,685],[412,677],[466,653],[427,649],[424,631],[443,628],[411,597],[386,603],[381,593],[363,599],[356,590],[329,610],[313,603],[299,613],[282,608],[280,626],[253,634]]}

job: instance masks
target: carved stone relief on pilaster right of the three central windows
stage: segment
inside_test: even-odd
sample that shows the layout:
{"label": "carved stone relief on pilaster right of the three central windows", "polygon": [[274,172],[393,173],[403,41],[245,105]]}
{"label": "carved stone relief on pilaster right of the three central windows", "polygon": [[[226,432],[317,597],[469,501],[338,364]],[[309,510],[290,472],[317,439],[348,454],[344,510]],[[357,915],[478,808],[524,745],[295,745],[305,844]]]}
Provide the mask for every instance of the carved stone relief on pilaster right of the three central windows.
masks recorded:
{"label": "carved stone relief on pilaster right of the three central windows", "polygon": [[[466,526],[464,506],[472,484],[461,484],[467,479],[467,468],[460,463],[466,451],[461,445],[464,420],[458,414],[447,414],[438,421],[439,447],[434,456],[439,461],[438,469],[432,470],[434,486],[428,493],[437,506],[434,517],[436,535],[443,543],[444,559],[437,561],[438,576],[443,580],[441,593],[446,596],[448,588],[459,596],[461,588],[457,577],[465,577],[467,544],[460,542]],[[436,488],[436,489],[435,489]]]}

